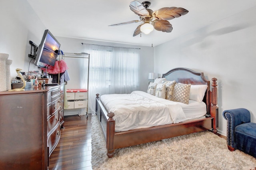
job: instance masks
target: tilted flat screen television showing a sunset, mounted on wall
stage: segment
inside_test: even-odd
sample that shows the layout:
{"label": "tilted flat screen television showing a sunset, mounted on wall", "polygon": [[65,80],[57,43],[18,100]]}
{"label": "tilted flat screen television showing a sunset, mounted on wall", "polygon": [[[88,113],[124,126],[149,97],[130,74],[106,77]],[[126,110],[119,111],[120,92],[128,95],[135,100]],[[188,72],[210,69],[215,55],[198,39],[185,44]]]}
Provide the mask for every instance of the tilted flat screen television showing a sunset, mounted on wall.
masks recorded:
{"label": "tilted flat screen television showing a sunset, mounted on wall", "polygon": [[54,67],[60,43],[49,30],[44,31],[41,43],[36,52],[35,65],[38,67]]}

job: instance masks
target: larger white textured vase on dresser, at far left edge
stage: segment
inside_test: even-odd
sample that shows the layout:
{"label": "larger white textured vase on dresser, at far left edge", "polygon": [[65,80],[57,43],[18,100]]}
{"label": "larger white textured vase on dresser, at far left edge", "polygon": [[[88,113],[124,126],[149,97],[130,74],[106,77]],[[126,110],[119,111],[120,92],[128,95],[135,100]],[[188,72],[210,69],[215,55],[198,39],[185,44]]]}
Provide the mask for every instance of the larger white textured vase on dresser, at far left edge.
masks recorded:
{"label": "larger white textured vase on dresser, at far left edge", "polygon": [[6,60],[9,54],[0,53],[0,91],[6,91]]}

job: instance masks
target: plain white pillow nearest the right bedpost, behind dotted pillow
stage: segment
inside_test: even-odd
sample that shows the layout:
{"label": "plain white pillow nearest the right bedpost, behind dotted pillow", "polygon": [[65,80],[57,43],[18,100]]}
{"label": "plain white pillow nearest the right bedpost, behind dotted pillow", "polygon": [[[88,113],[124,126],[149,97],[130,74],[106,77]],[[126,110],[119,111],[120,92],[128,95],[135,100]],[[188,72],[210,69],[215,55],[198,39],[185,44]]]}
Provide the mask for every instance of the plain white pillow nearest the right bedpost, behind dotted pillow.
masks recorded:
{"label": "plain white pillow nearest the right bedpost, behind dotted pillow", "polygon": [[207,85],[191,85],[189,99],[202,102],[206,89]]}

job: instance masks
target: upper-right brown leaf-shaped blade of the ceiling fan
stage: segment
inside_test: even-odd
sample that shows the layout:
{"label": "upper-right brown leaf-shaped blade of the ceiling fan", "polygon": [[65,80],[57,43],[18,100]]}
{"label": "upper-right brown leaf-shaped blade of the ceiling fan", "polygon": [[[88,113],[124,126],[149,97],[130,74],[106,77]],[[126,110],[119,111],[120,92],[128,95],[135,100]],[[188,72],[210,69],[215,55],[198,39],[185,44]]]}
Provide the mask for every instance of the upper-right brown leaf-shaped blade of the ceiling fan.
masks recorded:
{"label": "upper-right brown leaf-shaped blade of the ceiling fan", "polygon": [[152,16],[157,20],[172,20],[188,13],[188,10],[177,7],[160,8],[153,12]]}

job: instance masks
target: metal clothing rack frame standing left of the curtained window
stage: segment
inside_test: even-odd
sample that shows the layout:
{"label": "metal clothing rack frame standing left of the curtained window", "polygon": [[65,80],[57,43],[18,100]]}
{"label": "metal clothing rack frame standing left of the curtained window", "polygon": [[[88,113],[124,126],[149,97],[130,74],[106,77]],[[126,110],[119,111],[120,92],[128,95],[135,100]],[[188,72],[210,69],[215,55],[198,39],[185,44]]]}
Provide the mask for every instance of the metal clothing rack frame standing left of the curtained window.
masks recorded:
{"label": "metal clothing rack frame standing left of the curtained window", "polygon": [[[88,59],[87,91],[88,91],[88,93],[89,93],[89,65],[90,65],[90,54],[88,54],[88,53],[63,53],[62,59],[64,59],[65,57]],[[64,59],[64,60],[65,60],[65,59]],[[89,100],[89,95],[88,95],[88,98],[87,98],[86,118],[88,118],[88,100]]]}

